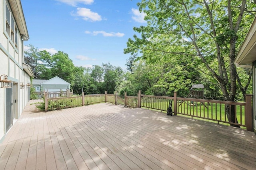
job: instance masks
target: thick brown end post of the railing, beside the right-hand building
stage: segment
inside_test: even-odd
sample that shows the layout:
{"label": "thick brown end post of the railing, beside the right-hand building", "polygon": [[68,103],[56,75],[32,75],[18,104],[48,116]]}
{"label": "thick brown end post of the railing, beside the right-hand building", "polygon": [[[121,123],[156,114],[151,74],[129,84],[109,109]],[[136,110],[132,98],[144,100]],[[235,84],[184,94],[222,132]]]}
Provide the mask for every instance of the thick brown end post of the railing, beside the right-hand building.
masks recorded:
{"label": "thick brown end post of the railing, beside the right-hand building", "polygon": [[252,94],[245,95],[246,102],[246,130],[253,131]]}

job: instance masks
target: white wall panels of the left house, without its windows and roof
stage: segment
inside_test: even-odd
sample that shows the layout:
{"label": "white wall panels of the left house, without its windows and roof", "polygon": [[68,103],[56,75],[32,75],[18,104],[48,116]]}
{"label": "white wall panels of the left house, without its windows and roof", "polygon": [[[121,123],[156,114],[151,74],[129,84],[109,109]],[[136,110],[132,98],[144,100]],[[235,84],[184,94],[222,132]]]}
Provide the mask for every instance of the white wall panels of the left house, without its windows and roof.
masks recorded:
{"label": "white wall panels of the left house, without its windows and roof", "polygon": [[[8,80],[11,80],[16,87],[16,97],[14,96],[16,98],[16,114],[14,118],[18,119],[28,103],[28,90],[30,90],[27,86],[24,89],[20,89],[20,82],[23,82],[24,85],[30,83],[30,76],[22,68],[24,61],[23,41],[19,30],[17,34],[18,47],[15,47],[5,31],[5,6],[6,0],[0,0],[0,75],[8,75]],[[4,77],[2,76],[2,78]],[[14,98],[13,102],[15,102]],[[6,88],[0,88],[0,143],[6,133]]]}

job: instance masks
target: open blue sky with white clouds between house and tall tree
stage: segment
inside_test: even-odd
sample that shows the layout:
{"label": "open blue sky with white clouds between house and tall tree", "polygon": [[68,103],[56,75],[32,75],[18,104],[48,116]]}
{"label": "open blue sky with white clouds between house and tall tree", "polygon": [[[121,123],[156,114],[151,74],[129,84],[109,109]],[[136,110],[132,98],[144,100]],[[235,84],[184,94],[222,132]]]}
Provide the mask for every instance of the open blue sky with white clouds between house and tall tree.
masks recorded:
{"label": "open blue sky with white clouds between house and tall tree", "polygon": [[[140,0],[21,0],[30,39],[39,50],[67,53],[75,66],[108,63],[126,69],[133,27],[145,25]],[[26,50],[26,47],[24,47]]]}

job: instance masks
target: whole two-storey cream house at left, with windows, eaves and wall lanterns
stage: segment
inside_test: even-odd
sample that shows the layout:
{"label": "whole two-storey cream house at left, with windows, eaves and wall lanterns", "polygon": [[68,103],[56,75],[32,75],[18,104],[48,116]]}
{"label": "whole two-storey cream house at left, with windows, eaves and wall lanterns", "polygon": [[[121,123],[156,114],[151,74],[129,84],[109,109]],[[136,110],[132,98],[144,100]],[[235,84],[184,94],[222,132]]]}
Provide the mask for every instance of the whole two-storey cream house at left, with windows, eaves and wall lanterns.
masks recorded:
{"label": "whole two-storey cream house at left, with windows, eaves and wall lanterns", "polygon": [[32,69],[24,63],[23,41],[28,30],[20,0],[0,0],[0,80],[10,80],[0,88],[0,143],[20,117],[30,100]]}

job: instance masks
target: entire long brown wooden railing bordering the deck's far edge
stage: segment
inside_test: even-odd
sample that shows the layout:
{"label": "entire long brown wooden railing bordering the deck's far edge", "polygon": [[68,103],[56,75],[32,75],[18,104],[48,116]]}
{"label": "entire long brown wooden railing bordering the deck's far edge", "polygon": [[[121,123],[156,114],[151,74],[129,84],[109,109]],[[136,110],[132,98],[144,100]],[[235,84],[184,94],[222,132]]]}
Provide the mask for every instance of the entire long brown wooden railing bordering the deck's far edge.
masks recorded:
{"label": "entire long brown wooden railing bordering the deck's far edge", "polygon": [[228,102],[217,100],[203,100],[194,98],[178,98],[174,92],[174,97],[142,95],[141,90],[137,96],[118,96],[117,94],[94,94],[75,97],[49,98],[45,93],[45,111],[62,109],[67,107],[85,106],[101,102],[121,105],[124,107],[142,107],[167,111],[172,101],[172,111],[174,115],[186,115],[227,123],[233,126],[246,127],[248,131],[253,130],[252,116],[252,95],[246,95],[246,102]]}

